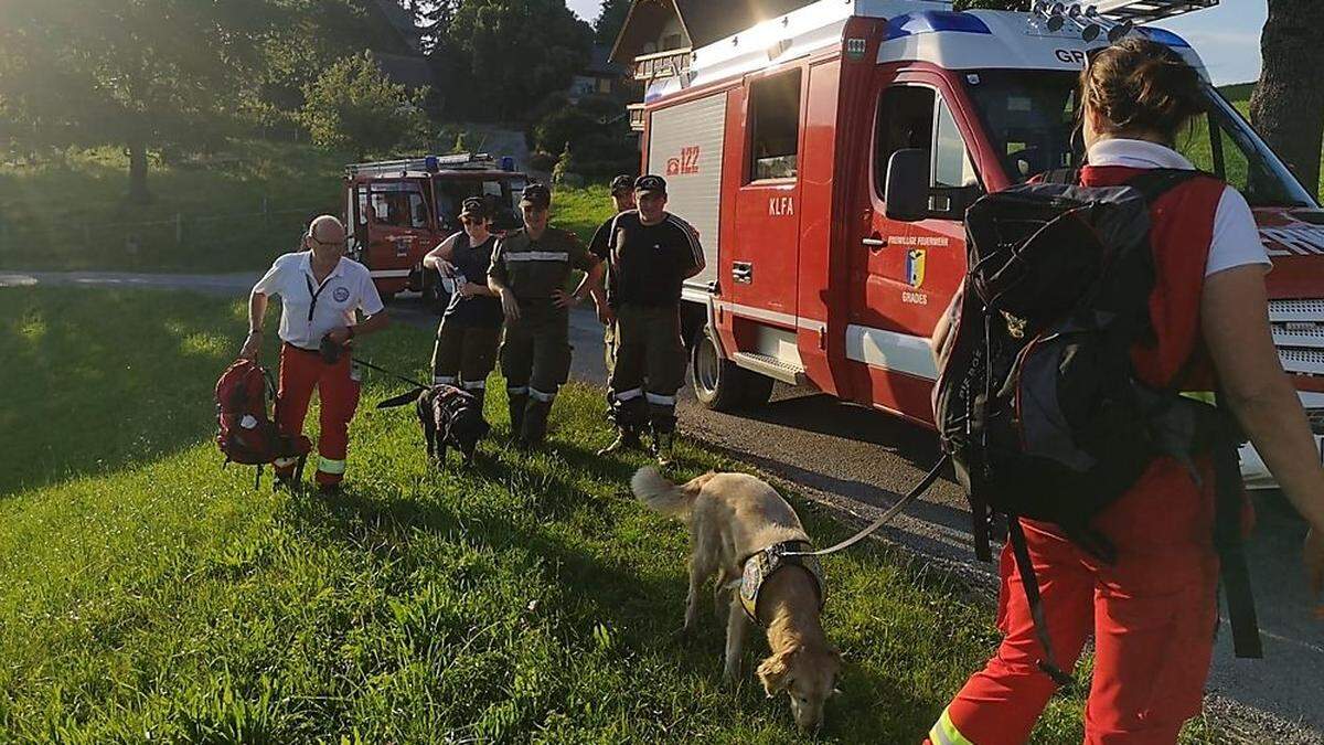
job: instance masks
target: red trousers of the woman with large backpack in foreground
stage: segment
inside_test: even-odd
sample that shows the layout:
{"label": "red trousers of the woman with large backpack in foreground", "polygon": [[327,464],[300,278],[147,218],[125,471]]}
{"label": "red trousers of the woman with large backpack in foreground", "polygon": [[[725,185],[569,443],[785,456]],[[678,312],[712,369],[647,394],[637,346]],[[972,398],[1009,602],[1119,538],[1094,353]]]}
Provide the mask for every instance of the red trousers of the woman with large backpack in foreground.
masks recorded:
{"label": "red trousers of the woman with large backpack in foreground", "polygon": [[[1218,557],[1211,500],[1189,496],[1165,500],[1145,489],[1106,510],[1100,528],[1117,547],[1112,565],[1042,524],[1021,521],[1057,664],[1070,671],[1086,639],[1095,638],[1087,744],[1170,745],[1200,713],[1218,623]],[[1002,644],[925,742],[1026,742],[1055,691],[1035,664],[1043,652],[1009,547],[1000,575]]]}

